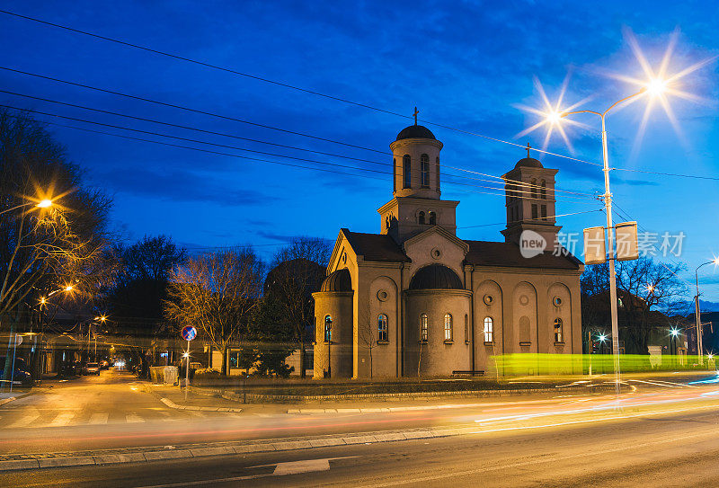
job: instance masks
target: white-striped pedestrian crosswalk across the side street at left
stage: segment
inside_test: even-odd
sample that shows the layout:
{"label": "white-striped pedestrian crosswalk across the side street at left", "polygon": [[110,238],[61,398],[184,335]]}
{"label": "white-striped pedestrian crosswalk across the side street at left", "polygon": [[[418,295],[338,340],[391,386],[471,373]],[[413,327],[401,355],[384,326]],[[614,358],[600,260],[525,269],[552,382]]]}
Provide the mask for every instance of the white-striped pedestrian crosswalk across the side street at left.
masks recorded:
{"label": "white-striped pedestrian crosswalk across the side street at left", "polygon": [[164,411],[145,409],[138,412],[76,411],[0,411],[0,430],[22,428],[73,427],[77,425],[140,424],[154,421],[188,421],[235,417],[236,413]]}

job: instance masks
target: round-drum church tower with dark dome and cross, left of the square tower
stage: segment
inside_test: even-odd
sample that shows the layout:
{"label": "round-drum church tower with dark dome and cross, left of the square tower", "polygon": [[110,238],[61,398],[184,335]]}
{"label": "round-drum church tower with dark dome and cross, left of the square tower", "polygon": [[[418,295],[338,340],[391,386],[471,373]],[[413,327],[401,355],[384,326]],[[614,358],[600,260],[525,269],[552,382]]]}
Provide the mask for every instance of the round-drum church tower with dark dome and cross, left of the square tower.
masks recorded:
{"label": "round-drum church tower with dark dome and cross, left of the square tower", "polygon": [[380,209],[381,233],[391,235],[398,244],[431,226],[441,226],[452,234],[457,230],[458,201],[440,200],[439,152],[442,143],[430,129],[417,124],[402,129],[389,148],[392,150],[392,195]]}

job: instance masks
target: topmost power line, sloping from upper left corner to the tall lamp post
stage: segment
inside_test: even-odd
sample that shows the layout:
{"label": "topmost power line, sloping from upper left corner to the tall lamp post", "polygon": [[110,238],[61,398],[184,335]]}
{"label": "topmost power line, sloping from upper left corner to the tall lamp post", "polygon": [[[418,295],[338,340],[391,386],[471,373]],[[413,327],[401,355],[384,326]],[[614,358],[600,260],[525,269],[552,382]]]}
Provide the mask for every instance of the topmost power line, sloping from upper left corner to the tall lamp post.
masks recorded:
{"label": "topmost power line, sloping from upper left corner to the tall lamp post", "polygon": [[[68,27],[67,25],[61,25],[61,24],[54,23],[54,22],[43,21],[43,20],[40,20],[40,19],[37,19],[37,18],[34,18],[34,17],[30,17],[30,16],[27,16],[27,15],[22,15],[22,14],[20,14],[20,13],[9,12],[9,11],[6,11],[6,10],[0,10],[0,13],[5,13],[5,14],[7,14],[7,15],[13,15],[13,16],[15,16],[15,17],[19,17],[19,18],[22,18],[22,19],[25,19],[25,20],[28,20],[28,21],[32,21],[32,22],[39,22],[39,23],[42,23],[42,24],[45,24],[45,25],[49,25],[49,26],[51,26],[51,27],[57,27],[58,29],[63,29],[63,30],[75,32],[75,33],[78,33],[78,34],[83,34],[83,35],[85,35],[85,36],[90,36],[90,37],[93,37],[93,38],[95,38],[95,39],[107,40],[107,41],[109,41],[109,42],[114,42],[114,43],[117,43],[117,44],[120,44],[120,45],[123,45],[123,46],[127,46],[127,47],[129,47],[129,48],[141,49],[141,50],[144,50],[144,51],[146,51],[146,52],[151,52],[151,53],[154,53],[154,54],[157,54],[157,55],[160,55],[160,56],[165,56],[165,57],[167,57],[167,58],[174,58],[174,59],[182,60],[182,61],[185,61],[185,62],[188,62],[188,63],[192,63],[192,64],[199,65],[199,66],[201,66],[201,67],[209,67],[209,68],[212,68],[212,69],[217,69],[217,70],[220,70],[220,71],[224,71],[224,72],[226,72],[226,73],[232,73],[232,74],[234,74],[234,75],[240,75],[240,76],[244,76],[244,77],[247,77],[247,78],[251,78],[251,79],[253,79],[253,80],[262,81],[262,82],[264,82],[264,83],[275,84],[275,85],[277,85],[277,86],[282,86],[282,87],[284,87],[284,88],[289,88],[289,89],[292,89],[292,90],[297,90],[298,92],[310,93],[310,94],[314,94],[314,95],[316,95],[316,96],[324,97],[324,98],[327,98],[327,99],[330,99],[330,100],[334,100],[334,101],[337,101],[337,102],[349,103],[349,104],[351,104],[351,105],[354,105],[354,106],[357,106],[357,107],[362,107],[362,108],[365,108],[365,109],[368,109],[368,110],[379,111],[379,112],[386,113],[386,114],[389,114],[389,115],[395,115],[395,116],[397,116],[397,117],[402,117],[403,119],[411,119],[410,116],[404,115],[404,114],[402,114],[402,113],[398,113],[398,112],[395,112],[395,111],[387,111],[387,110],[385,110],[385,109],[380,109],[380,108],[378,108],[378,107],[375,107],[375,106],[373,106],[373,105],[369,105],[369,104],[367,104],[367,103],[354,102],[354,101],[351,101],[351,100],[349,100],[349,99],[342,98],[342,97],[338,97],[338,96],[334,96],[334,95],[330,95],[330,94],[327,94],[327,93],[321,93],[321,92],[317,92],[317,91],[315,91],[315,90],[308,90],[308,89],[306,89],[306,88],[302,88],[302,87],[296,86],[296,85],[294,85],[294,84],[287,84],[287,83],[279,82],[279,81],[276,81],[276,80],[271,80],[271,79],[269,79],[269,78],[264,78],[264,77],[262,77],[262,76],[251,75],[251,74],[249,74],[249,73],[244,73],[244,72],[242,72],[242,71],[238,71],[238,70],[235,70],[235,69],[232,69],[232,68],[228,68],[228,67],[220,67],[220,66],[217,66],[217,65],[213,65],[213,64],[211,64],[211,63],[207,63],[207,62],[205,62],[205,61],[200,61],[200,60],[198,60],[198,59],[192,59],[192,58],[186,58],[186,57],[179,56],[179,55],[176,55],[176,54],[168,53],[168,52],[166,52],[166,51],[161,51],[161,50],[159,50],[159,49],[147,48],[146,46],[140,46],[140,45],[138,45],[138,44],[134,44],[134,43],[132,43],[132,42],[128,42],[128,41],[125,41],[125,40],[117,40],[117,39],[113,39],[113,38],[110,38],[110,37],[107,37],[107,36],[102,36],[102,35],[100,35],[100,34],[95,34],[95,33],[93,33],[93,32],[81,31],[81,30],[79,30],[79,29],[75,29],[75,28],[72,28],[72,27]],[[442,128],[442,129],[453,130],[453,131],[455,131],[455,132],[459,132],[459,133],[462,133],[462,134],[466,134],[466,135],[470,135],[470,136],[475,136],[475,137],[479,137],[479,138],[485,138],[485,139],[487,139],[487,140],[492,140],[492,141],[495,141],[495,142],[501,142],[501,143],[503,143],[503,144],[508,144],[508,145],[510,145],[510,146],[524,147],[524,146],[522,146],[522,145],[520,145],[520,144],[517,144],[517,143],[515,143],[515,142],[506,141],[506,140],[503,140],[503,139],[500,139],[500,138],[492,138],[492,137],[489,137],[489,136],[485,136],[484,134],[480,134],[480,133],[477,133],[477,132],[472,132],[472,131],[465,130],[465,129],[453,128],[453,127],[450,127],[450,126],[446,126],[446,125],[442,125],[442,124],[439,124],[439,123],[436,123],[436,122],[432,122],[431,120],[420,120],[420,121],[422,121],[423,123],[426,123],[426,124],[430,124],[430,125],[433,125],[433,126]],[[551,152],[545,151],[545,150],[543,150],[543,149],[535,149],[535,151],[537,151],[537,152],[539,152],[539,153],[546,154],[546,155],[554,155],[554,156],[556,156],[556,157],[562,157],[562,158],[569,159],[569,160],[572,160],[572,161],[576,161],[576,162],[579,162],[579,163],[593,164],[593,165],[599,166],[599,167],[602,166],[602,164],[599,164],[599,163],[592,163],[592,162],[590,162],[590,161],[586,161],[586,160],[579,159],[579,158],[572,157],[572,156],[568,156],[568,155],[560,155],[560,154],[556,154],[556,153],[551,153]]]}

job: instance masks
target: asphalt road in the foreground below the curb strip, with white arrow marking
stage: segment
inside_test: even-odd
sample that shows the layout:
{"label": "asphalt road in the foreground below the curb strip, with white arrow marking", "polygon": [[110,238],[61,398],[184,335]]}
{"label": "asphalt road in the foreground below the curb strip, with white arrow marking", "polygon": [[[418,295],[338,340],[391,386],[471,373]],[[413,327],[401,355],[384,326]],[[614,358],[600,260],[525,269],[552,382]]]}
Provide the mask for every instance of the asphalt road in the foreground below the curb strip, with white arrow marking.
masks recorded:
{"label": "asphalt road in the foreground below the curb strip, with white arrow marking", "polygon": [[719,413],[0,475],[3,486],[717,486]]}

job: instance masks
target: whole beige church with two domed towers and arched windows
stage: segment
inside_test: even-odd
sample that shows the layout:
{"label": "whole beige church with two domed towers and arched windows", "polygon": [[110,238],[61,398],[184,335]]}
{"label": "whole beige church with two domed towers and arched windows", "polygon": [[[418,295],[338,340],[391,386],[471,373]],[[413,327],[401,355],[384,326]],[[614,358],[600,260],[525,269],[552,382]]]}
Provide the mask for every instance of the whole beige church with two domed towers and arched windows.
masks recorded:
{"label": "whole beige church with two domed towers and arched windows", "polygon": [[[506,173],[503,242],[457,237],[458,201],[441,200],[442,143],[402,130],[390,145],[393,199],[378,234],[342,228],[315,298],[315,378],[448,377],[492,356],[581,353],[580,275],[555,255],[556,170],[526,157]],[[520,253],[522,233],[548,250]]]}

